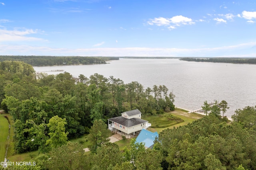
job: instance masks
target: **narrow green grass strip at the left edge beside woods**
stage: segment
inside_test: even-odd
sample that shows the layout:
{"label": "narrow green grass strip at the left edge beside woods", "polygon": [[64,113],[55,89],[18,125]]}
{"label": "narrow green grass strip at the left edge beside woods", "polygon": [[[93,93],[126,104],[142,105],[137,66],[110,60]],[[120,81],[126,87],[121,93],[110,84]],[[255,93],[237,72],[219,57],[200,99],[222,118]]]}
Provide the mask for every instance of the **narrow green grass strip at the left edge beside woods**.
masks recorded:
{"label": "narrow green grass strip at the left edge beside woods", "polygon": [[6,152],[7,146],[7,137],[9,131],[9,123],[7,119],[4,117],[8,114],[0,114],[0,161],[4,161],[4,156]]}

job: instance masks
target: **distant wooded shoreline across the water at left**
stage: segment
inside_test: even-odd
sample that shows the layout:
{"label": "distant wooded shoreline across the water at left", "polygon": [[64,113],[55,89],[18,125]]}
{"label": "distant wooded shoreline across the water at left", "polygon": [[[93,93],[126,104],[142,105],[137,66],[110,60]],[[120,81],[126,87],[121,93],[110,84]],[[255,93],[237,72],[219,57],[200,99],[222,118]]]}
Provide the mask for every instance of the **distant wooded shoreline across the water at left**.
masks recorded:
{"label": "distant wooded shoreline across the water at left", "polygon": [[78,64],[106,64],[109,60],[118,60],[118,57],[80,57],[80,56],[20,56],[0,55],[1,61],[24,61],[32,66],[51,65],[78,65]]}

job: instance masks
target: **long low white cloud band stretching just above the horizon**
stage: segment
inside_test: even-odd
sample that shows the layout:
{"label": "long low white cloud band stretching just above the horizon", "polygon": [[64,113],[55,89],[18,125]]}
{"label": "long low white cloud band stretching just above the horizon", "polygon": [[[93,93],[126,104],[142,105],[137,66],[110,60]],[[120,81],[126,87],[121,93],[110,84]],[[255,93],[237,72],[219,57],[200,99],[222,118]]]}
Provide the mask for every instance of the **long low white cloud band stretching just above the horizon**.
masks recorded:
{"label": "long low white cloud band stretching just above the horizon", "polygon": [[[212,48],[143,48],[143,47],[127,47],[127,48],[51,48],[37,47],[31,45],[4,45],[0,44],[0,53],[2,55],[56,55],[56,56],[162,56],[162,57],[218,57],[223,56],[225,52],[229,57],[255,57],[254,51],[248,51],[256,45],[256,42],[242,43],[237,45],[229,45]],[[238,54],[242,51],[242,54]],[[228,52],[228,53],[227,53]]]}

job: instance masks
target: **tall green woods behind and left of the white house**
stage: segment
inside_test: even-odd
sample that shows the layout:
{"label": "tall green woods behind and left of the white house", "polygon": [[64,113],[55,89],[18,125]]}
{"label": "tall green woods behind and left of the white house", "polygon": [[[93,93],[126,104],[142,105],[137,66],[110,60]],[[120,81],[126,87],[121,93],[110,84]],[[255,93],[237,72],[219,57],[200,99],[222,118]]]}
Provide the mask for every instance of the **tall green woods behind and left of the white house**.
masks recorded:
{"label": "tall green woods behind and left of the white house", "polygon": [[106,122],[131,109],[142,114],[172,111],[174,97],[164,85],[145,90],[136,81],[124,84],[113,76],[35,74],[23,61],[0,62],[0,103],[14,120],[15,150],[19,153],[46,152],[46,146],[60,146],[88,133],[94,121]]}

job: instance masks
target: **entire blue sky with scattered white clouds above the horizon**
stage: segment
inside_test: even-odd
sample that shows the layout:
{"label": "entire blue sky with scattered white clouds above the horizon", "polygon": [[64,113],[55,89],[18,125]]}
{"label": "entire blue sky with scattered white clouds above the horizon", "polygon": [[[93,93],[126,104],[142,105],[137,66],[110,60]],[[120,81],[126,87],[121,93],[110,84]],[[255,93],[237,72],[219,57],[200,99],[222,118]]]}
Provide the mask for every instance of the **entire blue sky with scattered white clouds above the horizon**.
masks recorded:
{"label": "entire blue sky with scattered white clouds above the horizon", "polygon": [[256,57],[256,1],[0,0],[0,55]]}

